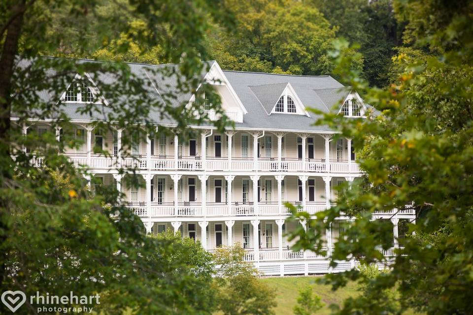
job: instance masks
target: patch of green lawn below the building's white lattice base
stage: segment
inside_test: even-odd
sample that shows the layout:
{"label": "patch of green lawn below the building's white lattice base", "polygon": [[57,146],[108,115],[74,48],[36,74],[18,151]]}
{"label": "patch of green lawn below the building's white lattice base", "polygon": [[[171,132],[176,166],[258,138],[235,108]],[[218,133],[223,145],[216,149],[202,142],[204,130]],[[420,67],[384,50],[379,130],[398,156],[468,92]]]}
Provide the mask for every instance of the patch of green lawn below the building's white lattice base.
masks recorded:
{"label": "patch of green lawn below the building's white lattice base", "polygon": [[282,277],[282,278],[262,278],[261,281],[274,288],[276,291],[276,307],[274,311],[277,315],[280,314],[293,314],[293,307],[297,303],[297,297],[299,290],[304,288],[306,285],[311,285],[314,288],[314,292],[320,296],[325,306],[318,314],[330,314],[329,305],[338,304],[350,296],[359,294],[356,290],[357,284],[349,283],[344,288],[337,290],[336,292],[330,289],[329,285],[316,284],[315,279],[317,276],[312,277]]}

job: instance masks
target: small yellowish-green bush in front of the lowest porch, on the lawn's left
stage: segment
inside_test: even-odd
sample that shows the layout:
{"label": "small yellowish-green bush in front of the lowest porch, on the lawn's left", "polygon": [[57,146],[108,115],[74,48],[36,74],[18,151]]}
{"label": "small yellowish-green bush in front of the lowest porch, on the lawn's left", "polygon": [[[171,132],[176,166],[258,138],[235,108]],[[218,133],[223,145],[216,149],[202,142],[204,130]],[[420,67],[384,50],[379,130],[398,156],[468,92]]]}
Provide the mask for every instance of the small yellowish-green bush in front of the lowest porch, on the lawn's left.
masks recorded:
{"label": "small yellowish-green bush in front of the lowest porch, on the lawn's left", "polygon": [[254,266],[243,260],[244,254],[240,244],[214,253],[218,308],[225,315],[272,315],[274,292],[259,281]]}

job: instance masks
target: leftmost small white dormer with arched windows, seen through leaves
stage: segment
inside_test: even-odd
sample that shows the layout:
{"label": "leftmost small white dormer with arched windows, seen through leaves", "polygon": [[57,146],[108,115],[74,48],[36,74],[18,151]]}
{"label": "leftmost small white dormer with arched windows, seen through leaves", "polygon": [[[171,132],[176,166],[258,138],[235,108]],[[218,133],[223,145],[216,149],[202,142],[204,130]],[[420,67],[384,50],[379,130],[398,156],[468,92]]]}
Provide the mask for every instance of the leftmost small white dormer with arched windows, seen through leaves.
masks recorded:
{"label": "leftmost small white dormer with arched windows, seen through leaves", "polygon": [[85,79],[76,74],[66,91],[61,96],[61,101],[65,103],[94,103],[108,106],[108,102],[100,95],[99,89],[89,74],[85,74]]}

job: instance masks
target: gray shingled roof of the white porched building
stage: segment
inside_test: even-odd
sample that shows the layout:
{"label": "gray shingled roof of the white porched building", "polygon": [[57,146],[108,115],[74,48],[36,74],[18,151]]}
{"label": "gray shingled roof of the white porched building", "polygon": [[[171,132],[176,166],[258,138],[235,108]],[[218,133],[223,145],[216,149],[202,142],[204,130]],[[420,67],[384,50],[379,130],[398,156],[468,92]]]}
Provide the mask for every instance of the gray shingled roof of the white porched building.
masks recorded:
{"label": "gray shingled roof of the white porched building", "polygon": [[[86,61],[77,60],[77,62]],[[29,62],[19,60],[19,63],[23,63],[22,65],[26,66]],[[212,64],[214,62],[210,61],[208,63]],[[147,91],[152,94],[153,97],[160,98],[160,93],[163,94],[175,90],[177,84],[176,77],[163,77],[160,74],[153,74],[152,70],[163,67],[176,67],[178,65],[149,65],[142,63],[128,63],[128,65],[131,71],[143,79],[145,83],[151,80],[153,84],[157,85],[156,88],[159,93],[154,89],[153,85],[146,87]],[[305,107],[316,108],[322,112],[329,112],[329,110],[341,101],[341,99],[345,98],[351,90],[351,88],[344,87],[331,76],[302,76],[228,70],[224,70],[223,72],[240,98],[243,106],[248,111],[248,114],[243,115],[243,123],[236,123],[236,128],[241,129],[265,128],[271,130],[332,131],[332,129],[327,126],[313,126],[314,122],[320,118],[320,115],[314,113],[310,113],[310,117],[284,113],[268,114],[288,83],[291,84]],[[203,77],[205,72],[201,75]],[[113,79],[113,76],[105,75],[105,77],[100,78],[100,81],[107,83],[112,82]],[[41,93],[45,100],[50,96],[47,93]],[[191,98],[190,93],[176,96],[176,99],[172,100],[172,103],[169,104],[172,107],[177,107],[181,102],[188,101]],[[57,102],[57,99],[49,100]],[[89,114],[77,113],[80,106],[81,104],[68,103],[67,106],[65,106],[65,112],[72,120],[105,120],[107,111],[109,110],[106,106],[102,106],[100,110],[96,113],[92,113],[92,116],[90,116]],[[173,123],[168,116],[161,116],[160,112],[152,111],[150,117],[143,118],[143,120],[161,124]],[[15,117],[15,115],[13,115],[13,117]]]}

